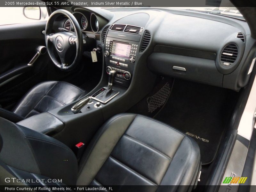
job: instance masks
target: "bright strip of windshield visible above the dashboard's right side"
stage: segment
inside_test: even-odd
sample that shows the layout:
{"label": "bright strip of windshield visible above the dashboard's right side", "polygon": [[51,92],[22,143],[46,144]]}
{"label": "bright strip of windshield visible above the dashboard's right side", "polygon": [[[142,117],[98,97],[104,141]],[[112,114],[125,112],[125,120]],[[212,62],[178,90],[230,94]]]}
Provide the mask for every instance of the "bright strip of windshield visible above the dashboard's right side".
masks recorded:
{"label": "bright strip of windshield visible above the dashboard's right side", "polygon": [[236,7],[169,7],[170,9],[182,9],[188,11],[206,12],[211,14],[218,14],[236,19],[244,20],[243,15],[236,9]]}

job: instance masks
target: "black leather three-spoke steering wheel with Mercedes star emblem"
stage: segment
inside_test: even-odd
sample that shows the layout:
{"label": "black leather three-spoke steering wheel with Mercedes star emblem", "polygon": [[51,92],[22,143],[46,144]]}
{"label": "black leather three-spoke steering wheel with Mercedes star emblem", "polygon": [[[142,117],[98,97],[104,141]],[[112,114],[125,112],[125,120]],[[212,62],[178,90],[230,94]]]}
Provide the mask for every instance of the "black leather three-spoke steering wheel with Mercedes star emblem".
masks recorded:
{"label": "black leather three-spoke steering wheel with Mercedes star emblem", "polygon": [[[64,32],[52,33],[54,20],[60,15],[65,15],[70,20],[75,32],[64,30]],[[50,15],[45,28],[45,44],[52,62],[58,68],[63,71],[70,71],[76,67],[83,54],[83,36],[81,28],[72,13],[59,9]],[[75,47],[76,56],[71,62],[70,58],[74,57]],[[60,61],[56,58],[56,52]]]}

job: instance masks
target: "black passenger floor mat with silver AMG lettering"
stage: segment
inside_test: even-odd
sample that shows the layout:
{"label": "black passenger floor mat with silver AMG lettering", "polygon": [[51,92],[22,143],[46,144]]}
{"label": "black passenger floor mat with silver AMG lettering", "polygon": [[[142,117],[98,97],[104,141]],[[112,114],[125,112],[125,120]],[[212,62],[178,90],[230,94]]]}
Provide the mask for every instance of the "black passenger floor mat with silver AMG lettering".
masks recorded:
{"label": "black passenger floor mat with silver AMG lettering", "polygon": [[175,79],[172,93],[156,119],[196,140],[202,164],[213,161],[238,93]]}

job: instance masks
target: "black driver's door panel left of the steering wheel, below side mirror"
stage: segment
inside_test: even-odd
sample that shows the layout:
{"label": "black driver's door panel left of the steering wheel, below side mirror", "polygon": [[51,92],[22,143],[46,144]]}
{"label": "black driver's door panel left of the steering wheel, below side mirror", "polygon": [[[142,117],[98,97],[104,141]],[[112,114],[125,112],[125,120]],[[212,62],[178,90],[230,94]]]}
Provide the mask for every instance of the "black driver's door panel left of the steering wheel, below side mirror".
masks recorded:
{"label": "black driver's door panel left of the steering wheel, below side mirror", "polygon": [[39,45],[45,45],[46,21],[0,26],[0,105],[11,110],[32,86],[47,80],[48,54],[27,66]]}

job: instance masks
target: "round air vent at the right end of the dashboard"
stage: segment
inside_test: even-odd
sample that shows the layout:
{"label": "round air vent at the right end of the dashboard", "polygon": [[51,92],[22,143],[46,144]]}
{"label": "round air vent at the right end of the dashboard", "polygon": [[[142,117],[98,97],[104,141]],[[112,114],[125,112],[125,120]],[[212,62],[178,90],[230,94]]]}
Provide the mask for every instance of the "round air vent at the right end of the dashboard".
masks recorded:
{"label": "round air vent at the right end of the dashboard", "polygon": [[230,43],[224,47],[220,55],[220,61],[223,65],[229,66],[236,61],[238,54],[238,47],[234,43]]}

